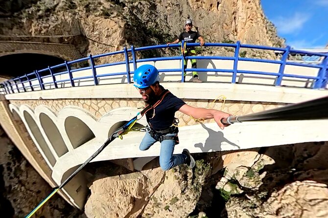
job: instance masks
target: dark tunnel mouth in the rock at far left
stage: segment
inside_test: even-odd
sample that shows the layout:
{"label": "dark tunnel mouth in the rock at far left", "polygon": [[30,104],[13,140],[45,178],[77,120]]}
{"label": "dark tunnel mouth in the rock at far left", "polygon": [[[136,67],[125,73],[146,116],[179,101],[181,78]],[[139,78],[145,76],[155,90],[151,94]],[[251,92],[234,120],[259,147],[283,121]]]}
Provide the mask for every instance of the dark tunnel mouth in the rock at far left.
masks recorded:
{"label": "dark tunnel mouth in the rock at far left", "polygon": [[[14,63],[14,64],[2,65],[1,76],[6,78],[18,77],[24,75],[25,73],[26,74],[31,73],[34,70],[45,69],[48,66],[59,65],[59,64],[63,64],[64,62],[65,62],[64,59],[50,56],[50,55],[44,55],[44,54],[20,53],[20,54],[5,55],[0,57],[0,63]],[[63,71],[63,69],[60,71]],[[42,73],[41,76],[45,76],[48,74],[50,73],[46,71]]]}

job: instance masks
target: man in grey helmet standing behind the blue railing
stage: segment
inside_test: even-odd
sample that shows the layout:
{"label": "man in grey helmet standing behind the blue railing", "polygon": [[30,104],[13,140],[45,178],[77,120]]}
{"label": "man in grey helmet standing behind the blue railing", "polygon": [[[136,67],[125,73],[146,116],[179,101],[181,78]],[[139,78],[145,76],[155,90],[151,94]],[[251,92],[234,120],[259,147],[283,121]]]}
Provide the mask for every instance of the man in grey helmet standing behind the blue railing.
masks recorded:
{"label": "man in grey helmet standing behind the blue railing", "polygon": [[[200,46],[203,46],[205,41],[203,39],[203,37],[201,35],[199,35],[198,31],[192,31],[192,21],[189,19],[189,16],[185,22],[185,27],[186,27],[186,31],[182,32],[178,39],[172,43],[167,43],[167,45],[169,44],[176,44],[179,43],[181,41],[185,41],[185,43],[195,43],[196,40],[198,39],[200,41]],[[183,46],[184,48],[184,46]],[[182,49],[183,55],[186,56],[196,56],[196,50],[195,47],[187,47],[187,49]],[[197,61],[196,59],[191,59],[191,68],[197,68]],[[184,60],[184,68],[187,68],[187,60]],[[186,71],[185,71],[185,75],[184,75],[184,80],[186,80]],[[198,78],[198,74],[196,71],[192,72],[193,75],[193,79],[192,82],[194,83],[201,83],[202,81]]]}

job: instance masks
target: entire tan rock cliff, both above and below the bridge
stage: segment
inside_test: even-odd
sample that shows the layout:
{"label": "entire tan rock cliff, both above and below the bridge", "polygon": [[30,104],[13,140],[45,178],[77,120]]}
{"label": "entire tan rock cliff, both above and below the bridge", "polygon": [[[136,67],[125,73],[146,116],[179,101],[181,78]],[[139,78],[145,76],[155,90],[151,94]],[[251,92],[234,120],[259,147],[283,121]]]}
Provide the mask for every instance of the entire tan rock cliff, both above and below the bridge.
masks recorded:
{"label": "entire tan rock cliff, both above and below the bridge", "polygon": [[[54,36],[56,43],[75,44],[83,56],[120,50],[130,44],[172,42],[183,31],[188,15],[207,42],[240,40],[244,44],[284,45],[265,18],[259,0],[0,0],[0,5],[0,37]],[[65,41],[58,36],[70,37]],[[203,51],[222,55],[232,52]],[[274,58],[271,53],[252,55]],[[115,57],[115,61],[122,58]],[[0,136],[0,212],[21,217],[47,196],[50,187],[2,130]],[[193,171],[179,166],[163,172],[158,159],[141,172],[129,172],[109,162],[94,163],[86,169],[94,180],[85,215],[56,196],[38,215],[328,217],[327,148],[327,142],[322,142],[195,154]],[[36,197],[30,199],[32,195]]]}

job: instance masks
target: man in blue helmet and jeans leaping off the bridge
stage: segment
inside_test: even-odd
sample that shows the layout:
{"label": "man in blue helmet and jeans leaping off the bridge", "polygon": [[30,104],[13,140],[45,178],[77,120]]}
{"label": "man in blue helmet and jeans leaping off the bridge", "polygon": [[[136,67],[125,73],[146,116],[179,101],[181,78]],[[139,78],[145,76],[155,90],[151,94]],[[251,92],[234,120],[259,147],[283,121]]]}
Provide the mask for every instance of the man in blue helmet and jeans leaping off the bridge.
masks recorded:
{"label": "man in blue helmet and jeans leaping off the bridge", "polygon": [[[194,108],[187,105],[183,100],[174,96],[160,85],[158,70],[153,65],[141,65],[134,73],[134,86],[137,87],[146,104],[146,119],[150,131],[143,137],[140,150],[145,151],[155,142],[161,142],[160,165],[161,168],[169,170],[175,166],[186,163],[190,168],[195,166],[195,160],[187,149],[181,154],[174,154],[174,146],[179,143],[178,120],[174,117],[176,111],[190,115],[196,119],[214,118],[218,126],[223,130],[225,126],[221,123],[222,118],[231,114],[205,108]],[[147,109],[148,108],[148,109]]]}

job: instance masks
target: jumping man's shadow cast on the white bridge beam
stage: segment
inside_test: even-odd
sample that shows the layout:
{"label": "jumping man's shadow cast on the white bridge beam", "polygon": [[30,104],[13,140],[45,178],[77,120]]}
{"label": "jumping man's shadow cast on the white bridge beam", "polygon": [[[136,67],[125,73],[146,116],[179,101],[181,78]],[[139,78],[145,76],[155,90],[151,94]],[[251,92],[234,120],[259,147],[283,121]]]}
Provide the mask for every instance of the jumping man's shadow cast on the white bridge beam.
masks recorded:
{"label": "jumping man's shadow cast on the white bridge beam", "polygon": [[225,138],[222,131],[213,131],[212,129],[207,128],[203,123],[201,123],[201,125],[206,131],[209,132],[209,137],[206,139],[204,145],[203,143],[197,143],[195,144],[195,148],[200,148],[202,152],[209,152],[210,150],[212,152],[218,152],[222,151],[222,142],[227,142],[228,144],[240,149],[240,146]]}

